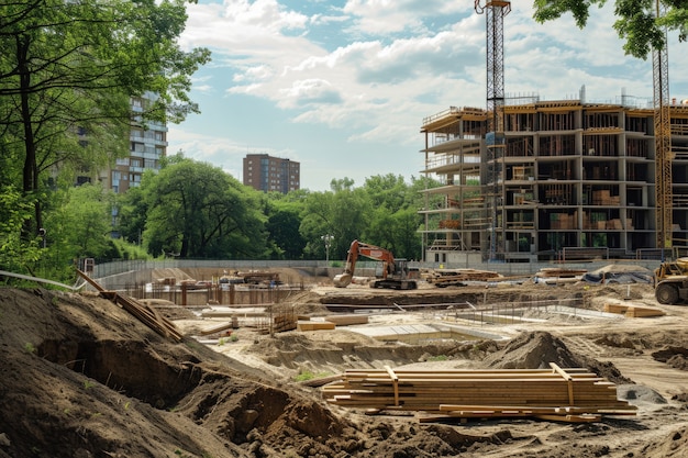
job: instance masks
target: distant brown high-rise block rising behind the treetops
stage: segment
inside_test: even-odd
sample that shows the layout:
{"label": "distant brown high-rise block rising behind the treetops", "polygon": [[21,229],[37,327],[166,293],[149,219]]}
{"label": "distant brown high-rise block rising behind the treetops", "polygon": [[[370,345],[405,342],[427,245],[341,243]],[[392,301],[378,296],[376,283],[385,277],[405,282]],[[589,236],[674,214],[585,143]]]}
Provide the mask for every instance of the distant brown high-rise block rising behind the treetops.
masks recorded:
{"label": "distant brown high-rise block rising behind the treetops", "polygon": [[248,154],[244,157],[244,185],[258,191],[277,191],[284,194],[300,189],[301,165],[290,159],[267,154]]}

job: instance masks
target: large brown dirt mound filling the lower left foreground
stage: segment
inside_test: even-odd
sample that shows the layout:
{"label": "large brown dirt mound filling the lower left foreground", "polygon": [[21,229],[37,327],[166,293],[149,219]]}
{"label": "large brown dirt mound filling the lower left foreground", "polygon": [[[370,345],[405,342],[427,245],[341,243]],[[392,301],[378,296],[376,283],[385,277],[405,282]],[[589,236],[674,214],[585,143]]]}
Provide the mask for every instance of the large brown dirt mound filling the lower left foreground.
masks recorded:
{"label": "large brown dirt mound filling the lower left foreground", "polygon": [[318,446],[347,425],[103,299],[4,289],[0,315],[2,457],[249,456],[285,432]]}

